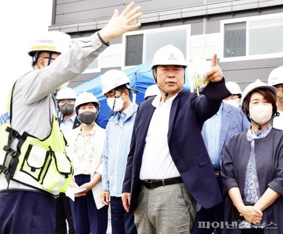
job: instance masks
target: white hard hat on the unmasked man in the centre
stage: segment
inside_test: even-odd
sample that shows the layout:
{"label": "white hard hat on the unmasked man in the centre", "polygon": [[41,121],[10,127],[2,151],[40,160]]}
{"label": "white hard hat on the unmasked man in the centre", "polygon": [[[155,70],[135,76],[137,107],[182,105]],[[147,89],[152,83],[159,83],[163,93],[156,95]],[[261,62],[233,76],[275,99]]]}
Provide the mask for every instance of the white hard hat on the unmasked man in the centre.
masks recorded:
{"label": "white hard hat on the unmasked man in the centre", "polygon": [[182,51],[169,44],[157,50],[153,56],[151,67],[156,65],[181,65],[187,67]]}

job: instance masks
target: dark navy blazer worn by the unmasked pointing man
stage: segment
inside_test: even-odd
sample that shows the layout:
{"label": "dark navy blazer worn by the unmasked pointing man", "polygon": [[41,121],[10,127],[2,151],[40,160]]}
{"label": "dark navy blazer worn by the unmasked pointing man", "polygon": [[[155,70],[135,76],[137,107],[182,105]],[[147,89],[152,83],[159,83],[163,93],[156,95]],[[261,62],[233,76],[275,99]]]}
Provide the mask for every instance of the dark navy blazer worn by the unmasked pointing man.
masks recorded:
{"label": "dark navy blazer worn by the unmasked pointing man", "polygon": [[[172,103],[167,137],[170,154],[189,193],[201,206],[211,208],[222,201],[222,196],[201,128],[206,119],[217,113],[222,99],[231,94],[224,79],[209,82],[202,94],[199,97],[190,91],[178,94]],[[139,177],[145,138],[155,110],[152,101],[149,99],[140,104],[133,126],[122,189],[131,193],[130,212],[136,208],[141,187]]]}

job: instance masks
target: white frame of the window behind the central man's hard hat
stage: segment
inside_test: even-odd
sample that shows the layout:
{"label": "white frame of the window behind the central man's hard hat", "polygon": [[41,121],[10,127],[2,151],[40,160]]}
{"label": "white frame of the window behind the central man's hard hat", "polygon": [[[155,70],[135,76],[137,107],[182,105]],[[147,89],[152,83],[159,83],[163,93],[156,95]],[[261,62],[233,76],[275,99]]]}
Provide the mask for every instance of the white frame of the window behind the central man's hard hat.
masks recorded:
{"label": "white frame of the window behind the central man's hard hat", "polygon": [[[121,69],[128,69],[135,67],[134,66],[125,66],[125,58],[126,58],[126,36],[131,36],[131,35],[138,35],[138,34],[150,34],[150,33],[157,33],[157,32],[166,32],[166,31],[175,31],[178,29],[187,29],[187,51],[186,55],[187,58],[186,60],[189,61],[189,51],[190,51],[190,24],[184,24],[184,25],[177,25],[177,26],[168,26],[168,27],[162,27],[162,28],[152,28],[152,29],[144,29],[144,30],[136,30],[136,31],[130,31],[126,32],[123,34],[122,37],[122,61],[121,61]],[[144,53],[146,48],[146,40],[143,40],[143,55],[142,55],[142,63],[145,63],[145,56],[146,54]]]}

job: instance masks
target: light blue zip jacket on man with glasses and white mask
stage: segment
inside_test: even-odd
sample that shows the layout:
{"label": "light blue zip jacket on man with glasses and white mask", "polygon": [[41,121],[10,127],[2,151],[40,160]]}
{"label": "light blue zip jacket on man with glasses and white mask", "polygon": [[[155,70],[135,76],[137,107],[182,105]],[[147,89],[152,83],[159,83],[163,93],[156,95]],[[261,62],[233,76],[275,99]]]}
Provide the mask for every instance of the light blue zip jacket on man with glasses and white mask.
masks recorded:
{"label": "light blue zip jacket on man with glasses and white mask", "polygon": [[106,125],[103,150],[102,191],[121,197],[134,120],[138,106],[132,103],[121,114],[114,113]]}

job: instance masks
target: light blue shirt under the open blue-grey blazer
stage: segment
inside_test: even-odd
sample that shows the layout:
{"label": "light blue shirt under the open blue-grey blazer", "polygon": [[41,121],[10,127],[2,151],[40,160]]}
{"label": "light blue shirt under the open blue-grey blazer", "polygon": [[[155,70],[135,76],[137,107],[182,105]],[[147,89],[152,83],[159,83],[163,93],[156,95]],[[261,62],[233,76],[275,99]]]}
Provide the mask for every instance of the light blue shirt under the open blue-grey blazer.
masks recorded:
{"label": "light blue shirt under the open blue-grey blazer", "polygon": [[210,157],[212,166],[214,169],[220,170],[220,160],[219,160],[219,138],[220,138],[220,129],[221,129],[221,116],[222,116],[222,108],[221,104],[218,112],[207,119],[205,124],[205,133],[207,138],[207,143],[205,144],[208,155]]}

